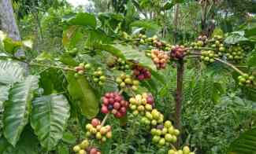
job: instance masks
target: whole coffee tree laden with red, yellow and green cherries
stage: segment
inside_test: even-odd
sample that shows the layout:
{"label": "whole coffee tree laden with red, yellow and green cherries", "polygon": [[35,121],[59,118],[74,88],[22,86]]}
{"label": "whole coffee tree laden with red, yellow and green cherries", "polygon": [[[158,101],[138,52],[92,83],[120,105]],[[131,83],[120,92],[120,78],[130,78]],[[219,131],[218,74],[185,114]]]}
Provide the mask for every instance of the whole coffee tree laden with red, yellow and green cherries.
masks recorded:
{"label": "whole coffee tree laden with red, yellow and green cherries", "polygon": [[[181,146],[180,137],[187,61],[224,64],[237,72],[239,86],[256,86],[253,72],[235,65],[245,60],[246,47],[251,44],[235,40],[234,34],[199,36],[186,45],[171,45],[158,36],[128,35],[120,29],[110,37],[89,13],[77,13],[64,22],[66,51],[58,56],[43,52],[32,60],[15,57],[17,49],[29,52],[28,42],[13,42],[0,33],[0,135],[5,145],[0,152],[20,153],[25,148],[25,153],[35,153],[37,144],[46,151],[57,145],[66,149],[67,142],[74,145],[74,153],[100,154],[115,135],[109,119],[120,119],[143,127],[162,153],[194,154],[196,149]],[[31,72],[42,72],[28,75],[18,63]],[[158,110],[148,86],[152,79],[164,83],[159,72],[173,64],[177,71],[174,120]],[[84,132],[72,142],[65,131],[70,116]]]}

